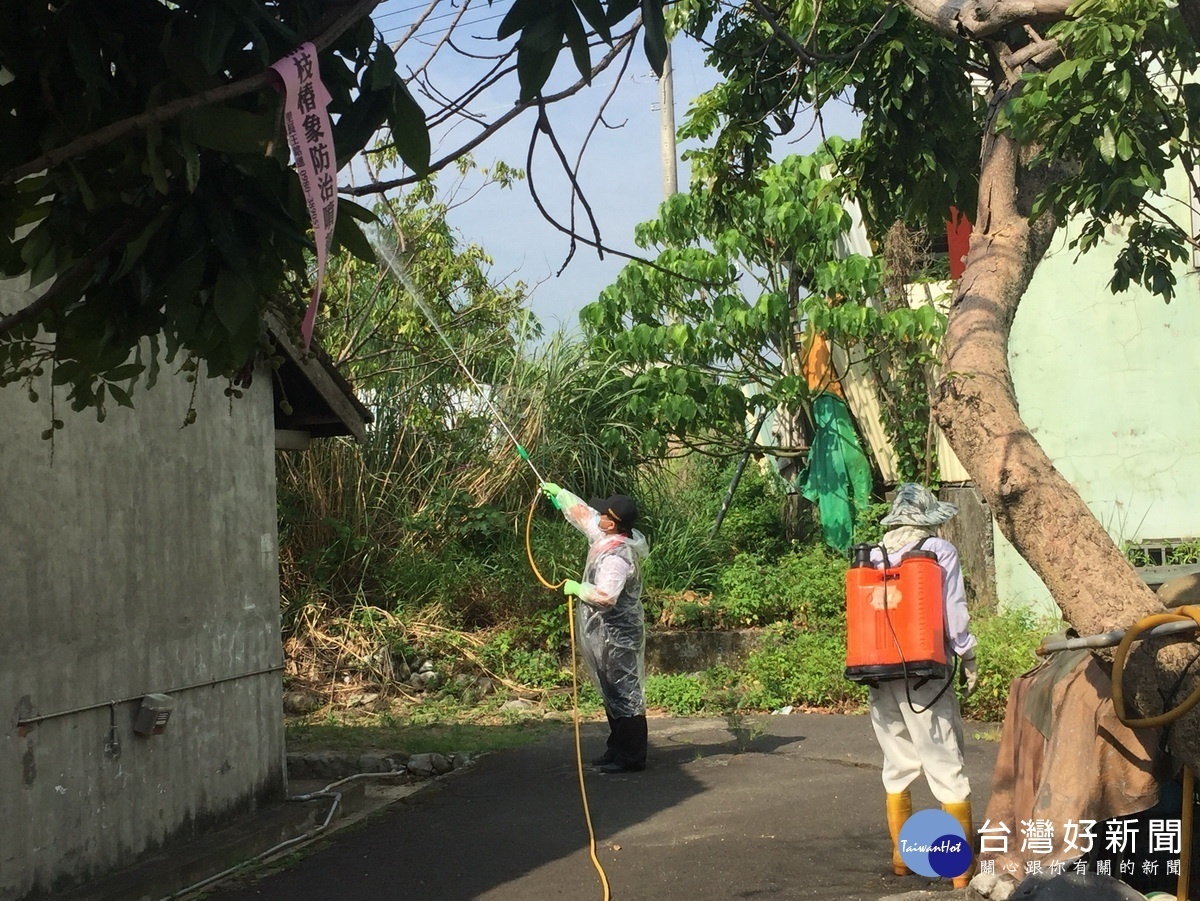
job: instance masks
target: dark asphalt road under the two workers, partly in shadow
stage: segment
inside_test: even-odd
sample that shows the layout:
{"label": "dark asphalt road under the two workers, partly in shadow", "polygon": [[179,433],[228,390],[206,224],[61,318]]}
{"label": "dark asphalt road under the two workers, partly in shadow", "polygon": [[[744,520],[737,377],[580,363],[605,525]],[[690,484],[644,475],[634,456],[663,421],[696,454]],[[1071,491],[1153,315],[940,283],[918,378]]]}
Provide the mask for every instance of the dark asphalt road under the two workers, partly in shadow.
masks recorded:
{"label": "dark asphalt road under the two workers, partly in shadow", "polygon": [[[643,773],[584,765],[596,855],[613,901],[878,901],[948,881],[889,866],[880,752],[865,716],[650,720]],[[583,727],[584,761],[602,725]],[[974,822],[996,743],[967,723]],[[914,809],[936,806],[924,781]],[[961,893],[959,893],[961,894]],[[277,872],[211,888],[212,901],[604,899],[589,854],[570,728],[488,755]]]}

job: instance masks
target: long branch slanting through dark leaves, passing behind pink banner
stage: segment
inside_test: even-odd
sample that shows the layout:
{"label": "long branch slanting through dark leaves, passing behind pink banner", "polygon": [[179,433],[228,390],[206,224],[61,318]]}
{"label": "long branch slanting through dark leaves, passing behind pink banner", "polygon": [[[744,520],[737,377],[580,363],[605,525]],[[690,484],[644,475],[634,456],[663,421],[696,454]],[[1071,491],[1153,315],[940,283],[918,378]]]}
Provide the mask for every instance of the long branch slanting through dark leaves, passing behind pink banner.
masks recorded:
{"label": "long branch slanting through dark leaves, passing behind pink banner", "polygon": [[[313,47],[318,50],[323,50],[329,47],[354,23],[364,16],[370,16],[371,11],[374,10],[379,2],[380,0],[358,0],[358,2],[353,6],[337,12],[334,20],[314,38],[312,38]],[[128,119],[122,119],[118,122],[113,122],[112,125],[106,125],[103,128],[94,131],[90,134],[84,134],[60,148],[49,150],[36,160],[31,160],[28,163],[23,163],[10,169],[4,173],[4,175],[0,175],[0,185],[11,185],[26,175],[32,175],[42,172],[43,169],[53,169],[67,160],[73,160],[74,157],[90,154],[92,150],[102,148],[119,138],[145,131],[152,125],[169,121],[188,110],[212,106],[214,103],[222,103],[223,101],[233,97],[241,97],[246,94],[253,94],[254,91],[266,88],[275,78],[276,76],[274,70],[268,68],[259,72],[257,76],[244,78],[240,82],[223,84],[220,88],[212,88],[211,90],[202,91],[200,94],[194,94],[190,97],[180,97],[170,103],[155,107],[145,113],[139,113],[136,116],[130,116]]]}

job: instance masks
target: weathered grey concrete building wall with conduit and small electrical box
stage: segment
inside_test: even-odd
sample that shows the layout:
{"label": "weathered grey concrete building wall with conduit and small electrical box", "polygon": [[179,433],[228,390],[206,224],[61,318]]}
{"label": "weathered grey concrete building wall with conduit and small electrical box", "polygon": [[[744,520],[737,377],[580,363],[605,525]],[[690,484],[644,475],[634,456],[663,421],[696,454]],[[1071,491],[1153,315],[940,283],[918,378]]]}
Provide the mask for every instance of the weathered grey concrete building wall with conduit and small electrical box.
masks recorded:
{"label": "weathered grey concrete building wall with conduit and small electrical box", "polygon": [[[60,400],[53,446],[48,388],[0,390],[0,901],[286,793],[271,385],[232,407],[222,389],[202,380],[187,428],[166,368],[103,424]],[[175,708],[143,738],[124,699],[148,692]]]}

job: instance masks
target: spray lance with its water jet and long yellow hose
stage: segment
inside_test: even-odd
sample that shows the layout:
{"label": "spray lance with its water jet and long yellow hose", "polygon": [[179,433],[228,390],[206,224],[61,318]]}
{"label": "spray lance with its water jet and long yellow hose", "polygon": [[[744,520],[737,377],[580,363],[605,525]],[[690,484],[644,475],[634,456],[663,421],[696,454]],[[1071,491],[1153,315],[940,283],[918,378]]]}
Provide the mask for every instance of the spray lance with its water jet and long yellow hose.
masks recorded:
{"label": "spray lance with its water jet and long yellow hose", "polygon": [[[442,343],[445,344],[446,350],[450,352],[450,355],[454,356],[455,361],[458,364],[458,367],[470,380],[470,384],[475,388],[475,392],[484,400],[484,403],[487,404],[487,408],[491,410],[493,419],[496,420],[496,422],[499,424],[500,428],[504,430],[505,434],[508,434],[509,439],[516,448],[517,456],[521,457],[521,459],[526,462],[526,465],[528,465],[529,469],[533,471],[534,477],[536,477],[538,480],[539,488],[550,485],[542,477],[541,473],[538,471],[538,467],[534,465],[534,462],[529,458],[529,452],[523,446],[521,446],[521,442],[517,440],[516,434],[514,434],[512,430],[509,428],[508,424],[504,421],[504,418],[500,415],[500,412],[496,408],[496,404],[492,403],[492,398],[488,396],[488,392],[485,391],[484,386],[479,384],[479,382],[475,379],[474,373],[472,373],[470,367],[467,366],[463,359],[458,355],[458,352],[455,350],[449,338],[446,338],[445,332],[442,331],[442,326],[438,324],[437,317],[434,317],[432,311],[425,305],[425,301],[421,299],[421,293],[413,283],[413,278],[412,276],[409,276],[408,269],[404,265],[403,260],[401,259],[396,245],[391,241],[389,236],[384,235],[378,228],[373,229],[373,234],[371,236],[371,244],[374,247],[376,257],[379,259],[380,263],[383,263],[383,265],[388,269],[388,271],[391,272],[391,275],[394,275],[396,280],[404,287],[404,290],[407,290],[409,296],[412,296],[413,302],[416,304],[416,307],[421,311],[421,313],[425,314],[425,318],[428,319],[430,325],[433,326],[433,331],[437,332],[437,336],[442,340]],[[541,492],[539,491],[539,494]],[[554,505],[556,509],[560,509],[559,500],[557,497],[551,494],[548,495],[548,500],[551,504]],[[547,582],[546,578],[542,577],[541,572],[539,572],[538,565],[536,563],[534,563],[533,559],[530,531],[533,529],[533,515],[534,511],[536,510],[536,506],[538,506],[538,498],[535,497],[533,503],[529,505],[529,516],[526,519],[526,554],[529,558],[529,567],[533,570],[533,575],[538,578],[538,581],[551,590],[558,590],[564,584],[566,584],[566,579],[559,582],[558,584]],[[575,649],[575,611],[572,606],[572,599],[570,596],[568,597],[566,613],[568,613],[568,632],[571,636],[571,660],[575,661],[577,659]],[[574,701],[574,709],[575,709],[575,715],[572,716],[575,723],[575,762],[580,777],[580,794],[583,800],[583,817],[588,825],[588,839],[589,839],[588,849],[592,857],[592,865],[595,867],[596,873],[599,875],[600,878],[601,888],[604,889],[604,901],[608,901],[612,896],[608,888],[608,877],[604,871],[604,866],[601,866],[600,864],[600,859],[596,857],[595,830],[592,827],[592,815],[588,810],[588,794],[583,781],[583,749],[580,740],[580,704],[578,704],[580,692],[578,692],[578,680],[575,666],[571,667],[571,697]]]}

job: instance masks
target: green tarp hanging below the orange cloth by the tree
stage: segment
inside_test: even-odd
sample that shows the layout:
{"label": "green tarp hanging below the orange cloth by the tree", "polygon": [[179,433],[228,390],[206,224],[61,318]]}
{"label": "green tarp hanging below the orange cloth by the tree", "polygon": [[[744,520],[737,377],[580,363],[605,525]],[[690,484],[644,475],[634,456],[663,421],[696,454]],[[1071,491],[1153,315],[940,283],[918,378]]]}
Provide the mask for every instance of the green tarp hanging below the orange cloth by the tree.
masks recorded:
{"label": "green tarp hanging below the orange cloth by the tree", "polygon": [[856,513],[871,503],[871,465],[858,443],[845,401],[820,394],[812,401],[815,434],[800,493],[817,505],[826,543],[850,548]]}

